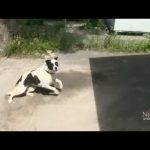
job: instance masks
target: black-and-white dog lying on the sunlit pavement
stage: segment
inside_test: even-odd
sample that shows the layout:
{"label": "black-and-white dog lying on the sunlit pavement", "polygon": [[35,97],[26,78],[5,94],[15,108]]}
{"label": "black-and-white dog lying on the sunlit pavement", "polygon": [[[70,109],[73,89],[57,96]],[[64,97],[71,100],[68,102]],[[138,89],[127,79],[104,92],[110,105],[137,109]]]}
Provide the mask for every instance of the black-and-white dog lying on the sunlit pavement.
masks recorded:
{"label": "black-and-white dog lying on the sunlit pavement", "polygon": [[[24,73],[17,81],[14,89],[6,94],[9,96],[8,103],[12,103],[14,97],[22,94],[34,96],[38,87],[53,91],[54,95],[58,95],[62,91],[62,81],[54,77],[58,71],[58,56],[51,52],[48,54],[45,56],[44,64],[41,67]],[[55,83],[58,84],[59,88],[54,86]]]}

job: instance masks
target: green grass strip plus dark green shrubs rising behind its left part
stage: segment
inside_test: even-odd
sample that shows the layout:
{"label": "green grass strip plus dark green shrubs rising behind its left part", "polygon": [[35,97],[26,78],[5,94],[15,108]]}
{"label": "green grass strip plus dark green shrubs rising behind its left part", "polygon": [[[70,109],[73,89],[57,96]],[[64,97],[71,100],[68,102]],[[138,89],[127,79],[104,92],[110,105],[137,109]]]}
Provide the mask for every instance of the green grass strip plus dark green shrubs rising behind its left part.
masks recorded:
{"label": "green grass strip plus dark green shrubs rising behind its left part", "polygon": [[[102,29],[102,22],[100,21],[99,24]],[[72,52],[81,49],[109,52],[150,52],[150,36],[144,40],[121,39],[116,34],[98,34],[97,30],[94,30],[92,34],[85,34],[85,32],[75,34],[66,32],[63,23],[54,26],[45,26],[40,23],[38,25],[19,24],[16,35],[18,36],[11,36],[1,55],[40,57],[49,49],[54,52]]]}

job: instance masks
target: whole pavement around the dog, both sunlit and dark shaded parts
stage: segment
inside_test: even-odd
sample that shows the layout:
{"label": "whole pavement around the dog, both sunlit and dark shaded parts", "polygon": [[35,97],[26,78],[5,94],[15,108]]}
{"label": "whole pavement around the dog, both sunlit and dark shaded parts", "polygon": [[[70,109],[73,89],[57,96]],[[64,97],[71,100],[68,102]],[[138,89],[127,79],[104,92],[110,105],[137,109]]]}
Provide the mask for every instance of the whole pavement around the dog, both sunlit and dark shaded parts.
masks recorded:
{"label": "whole pavement around the dog, both sunlit and dark shaded parts", "polygon": [[8,104],[5,94],[20,75],[43,60],[0,58],[1,131],[150,130],[148,54],[78,51],[59,54],[59,62],[59,96],[37,93]]}

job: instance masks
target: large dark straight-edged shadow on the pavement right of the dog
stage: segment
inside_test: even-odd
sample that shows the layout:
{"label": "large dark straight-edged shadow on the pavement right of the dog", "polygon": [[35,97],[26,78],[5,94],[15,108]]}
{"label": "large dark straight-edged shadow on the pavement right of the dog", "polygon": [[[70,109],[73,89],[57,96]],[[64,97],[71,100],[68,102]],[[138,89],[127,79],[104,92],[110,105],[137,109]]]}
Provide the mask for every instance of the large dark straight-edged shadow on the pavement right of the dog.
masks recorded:
{"label": "large dark straight-edged shadow on the pavement right of the dog", "polygon": [[150,130],[150,56],[90,58],[90,66],[100,130]]}

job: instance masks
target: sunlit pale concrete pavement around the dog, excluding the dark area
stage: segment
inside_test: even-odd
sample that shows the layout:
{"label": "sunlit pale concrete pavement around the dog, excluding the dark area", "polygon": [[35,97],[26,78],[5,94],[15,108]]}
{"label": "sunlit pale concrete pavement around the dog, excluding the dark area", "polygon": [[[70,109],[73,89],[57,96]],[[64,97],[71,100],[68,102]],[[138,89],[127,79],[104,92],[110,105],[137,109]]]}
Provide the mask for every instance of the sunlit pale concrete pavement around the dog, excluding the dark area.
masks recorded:
{"label": "sunlit pale concrete pavement around the dog, excluding the dark area", "polygon": [[[8,104],[5,94],[20,75],[39,67],[42,59],[0,59],[1,131],[99,131],[89,52],[59,54],[58,77],[64,90],[59,96],[15,98]],[[93,54],[96,56],[96,54]]]}

